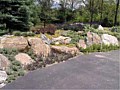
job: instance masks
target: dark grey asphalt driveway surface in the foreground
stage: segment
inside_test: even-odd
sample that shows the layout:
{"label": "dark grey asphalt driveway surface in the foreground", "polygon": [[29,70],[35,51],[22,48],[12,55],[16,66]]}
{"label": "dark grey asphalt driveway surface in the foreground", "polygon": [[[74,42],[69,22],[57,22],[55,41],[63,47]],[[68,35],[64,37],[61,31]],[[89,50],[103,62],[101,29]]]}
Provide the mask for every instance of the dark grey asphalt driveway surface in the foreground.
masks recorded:
{"label": "dark grey asphalt driveway surface in the foreground", "polygon": [[28,73],[3,89],[120,90],[120,50],[77,56]]}

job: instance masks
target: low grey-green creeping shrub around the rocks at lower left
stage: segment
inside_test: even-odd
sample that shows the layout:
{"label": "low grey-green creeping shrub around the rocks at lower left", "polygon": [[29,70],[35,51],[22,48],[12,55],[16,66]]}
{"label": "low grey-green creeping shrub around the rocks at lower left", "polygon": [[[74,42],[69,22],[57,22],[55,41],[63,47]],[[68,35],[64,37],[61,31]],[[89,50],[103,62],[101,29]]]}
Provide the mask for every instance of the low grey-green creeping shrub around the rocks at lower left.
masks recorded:
{"label": "low grey-green creeping shrub around the rocks at lower left", "polygon": [[0,53],[8,57],[8,60],[11,61],[11,65],[7,68],[6,72],[8,74],[7,82],[10,83],[14,81],[19,76],[23,76],[24,69],[21,66],[21,63],[15,60],[15,55],[19,53],[16,49],[0,49]]}

